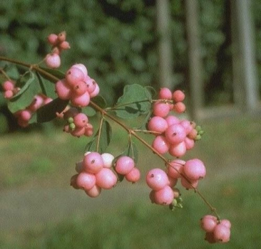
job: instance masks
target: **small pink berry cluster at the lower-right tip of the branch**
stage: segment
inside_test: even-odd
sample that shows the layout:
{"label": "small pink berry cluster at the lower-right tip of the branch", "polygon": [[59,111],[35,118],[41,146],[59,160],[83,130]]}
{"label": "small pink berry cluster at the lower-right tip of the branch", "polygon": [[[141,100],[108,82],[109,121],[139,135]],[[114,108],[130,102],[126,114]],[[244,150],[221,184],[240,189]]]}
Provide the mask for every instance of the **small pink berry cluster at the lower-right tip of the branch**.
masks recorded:
{"label": "small pink berry cluster at the lower-right tip of the branch", "polygon": [[205,240],[209,243],[227,243],[230,240],[230,221],[218,221],[215,216],[204,216],[200,221],[201,228],[206,232]]}

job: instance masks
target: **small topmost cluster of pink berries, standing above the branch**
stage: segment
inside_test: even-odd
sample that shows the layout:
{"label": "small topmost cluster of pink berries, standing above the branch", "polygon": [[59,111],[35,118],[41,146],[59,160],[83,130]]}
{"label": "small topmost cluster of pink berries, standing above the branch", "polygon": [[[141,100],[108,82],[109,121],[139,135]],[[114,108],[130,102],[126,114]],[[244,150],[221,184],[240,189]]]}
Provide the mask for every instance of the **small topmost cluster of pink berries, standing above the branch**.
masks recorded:
{"label": "small topmost cluster of pink berries, standing above the branch", "polygon": [[46,55],[46,65],[49,68],[58,68],[61,65],[61,51],[70,48],[70,44],[68,43],[68,41],[66,41],[66,32],[63,31],[61,33],[58,33],[58,35],[56,35],[55,33],[51,33],[48,36],[48,43],[50,43],[53,47],[51,53],[48,53]]}

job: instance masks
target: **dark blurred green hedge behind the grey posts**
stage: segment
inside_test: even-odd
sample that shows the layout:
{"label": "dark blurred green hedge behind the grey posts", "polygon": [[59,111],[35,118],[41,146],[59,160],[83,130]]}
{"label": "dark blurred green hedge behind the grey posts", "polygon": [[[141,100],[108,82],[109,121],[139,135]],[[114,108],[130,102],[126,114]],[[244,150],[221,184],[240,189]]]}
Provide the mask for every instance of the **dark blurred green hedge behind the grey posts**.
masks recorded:
{"label": "dark blurred green hedge behind the grey posts", "polygon": [[[252,4],[261,75],[260,0]],[[170,1],[170,7],[173,82],[188,90],[184,1]],[[87,65],[110,104],[126,84],[158,87],[155,0],[9,0],[0,2],[0,14],[0,55],[37,63],[51,50],[48,34],[66,30],[71,50],[62,54],[61,70]],[[232,102],[229,1],[200,0],[199,18],[205,101]]]}

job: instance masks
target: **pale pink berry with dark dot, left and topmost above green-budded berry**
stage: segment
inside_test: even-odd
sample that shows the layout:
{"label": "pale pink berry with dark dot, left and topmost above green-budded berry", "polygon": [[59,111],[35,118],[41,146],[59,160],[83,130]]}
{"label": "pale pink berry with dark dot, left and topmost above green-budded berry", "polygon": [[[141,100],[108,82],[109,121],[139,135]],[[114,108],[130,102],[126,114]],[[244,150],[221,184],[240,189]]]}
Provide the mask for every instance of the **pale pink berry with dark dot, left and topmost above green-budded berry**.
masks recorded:
{"label": "pale pink berry with dark dot, left and topmost above green-budded berry", "polygon": [[146,175],[146,183],[155,191],[168,185],[168,176],[162,169],[150,169]]}

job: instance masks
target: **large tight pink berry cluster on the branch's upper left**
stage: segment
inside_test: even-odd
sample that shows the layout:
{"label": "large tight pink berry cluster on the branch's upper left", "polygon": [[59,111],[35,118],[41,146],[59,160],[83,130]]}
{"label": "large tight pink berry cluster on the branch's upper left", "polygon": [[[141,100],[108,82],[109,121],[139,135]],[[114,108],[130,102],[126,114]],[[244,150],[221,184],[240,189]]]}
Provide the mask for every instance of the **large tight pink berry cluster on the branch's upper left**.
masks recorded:
{"label": "large tight pink berry cluster on the branch's upper left", "polygon": [[96,97],[100,88],[95,80],[88,76],[85,65],[75,64],[66,72],[66,77],[56,83],[56,93],[61,100],[71,100],[76,107],[86,107],[92,97]]}

